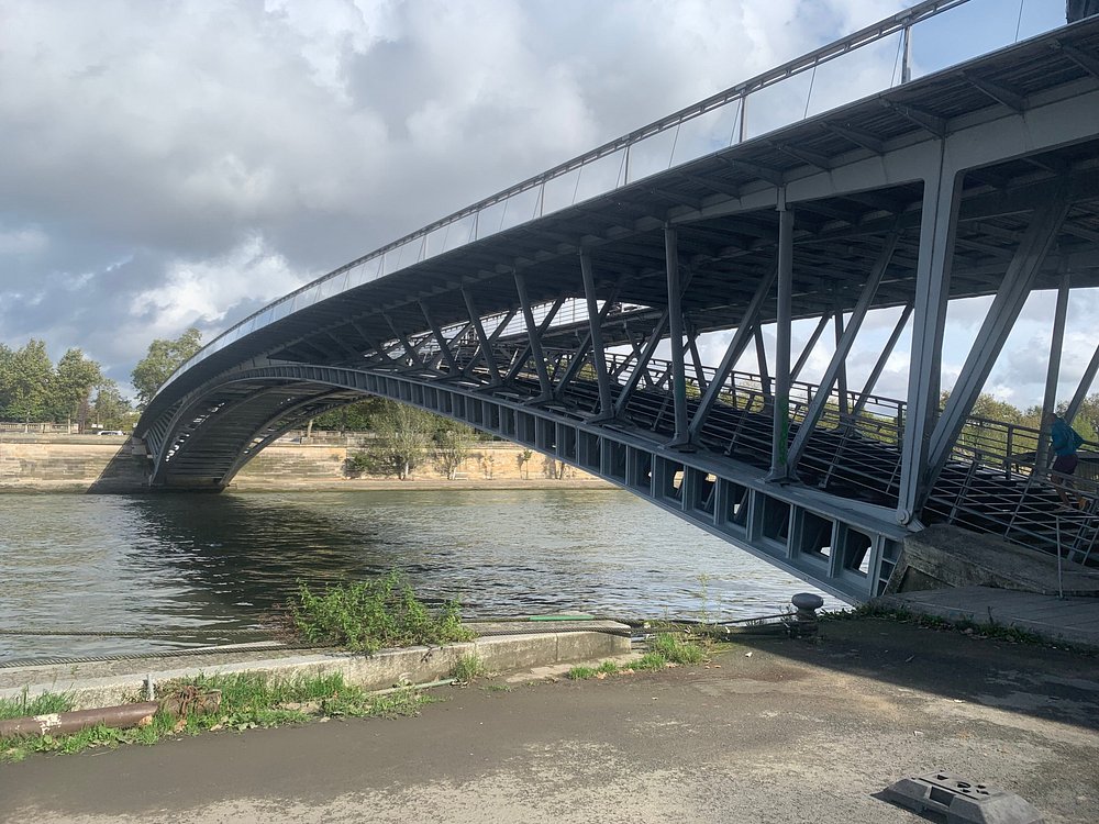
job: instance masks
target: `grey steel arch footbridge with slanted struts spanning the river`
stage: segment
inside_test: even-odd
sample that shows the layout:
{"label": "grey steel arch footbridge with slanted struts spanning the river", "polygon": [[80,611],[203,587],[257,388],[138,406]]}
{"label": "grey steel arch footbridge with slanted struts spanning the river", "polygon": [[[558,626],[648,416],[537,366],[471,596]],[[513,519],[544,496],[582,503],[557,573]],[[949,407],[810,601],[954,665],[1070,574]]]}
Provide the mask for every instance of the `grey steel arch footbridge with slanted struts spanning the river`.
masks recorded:
{"label": "grey steel arch footbridge with slanted struts spanning the river", "polygon": [[[761,89],[877,38],[907,49],[913,26],[963,3],[920,3],[246,319],[145,410],[151,486],[224,488],[287,430],[375,394],[598,475],[848,600],[881,592],[925,524],[1052,545],[1044,437],[972,410],[1035,290],[1058,296],[1052,409],[1069,299],[1099,286],[1099,19],[759,136],[745,126]],[[631,175],[646,141],[721,107],[733,145]],[[577,191],[608,160],[607,191],[551,211],[555,185],[575,174]],[[522,202],[530,219],[485,230]],[[947,307],[976,296],[991,309],[941,408]],[[899,318],[856,390],[847,359],[881,308]],[[803,320],[814,332],[795,356]],[[799,381],[830,327],[823,378]],[[879,397],[904,329],[907,398]],[[699,335],[715,331],[724,356],[702,364]],[[759,374],[735,368],[751,348]],[[1069,417],[1097,370],[1099,348]],[[1073,546],[1095,537],[1079,527]]]}

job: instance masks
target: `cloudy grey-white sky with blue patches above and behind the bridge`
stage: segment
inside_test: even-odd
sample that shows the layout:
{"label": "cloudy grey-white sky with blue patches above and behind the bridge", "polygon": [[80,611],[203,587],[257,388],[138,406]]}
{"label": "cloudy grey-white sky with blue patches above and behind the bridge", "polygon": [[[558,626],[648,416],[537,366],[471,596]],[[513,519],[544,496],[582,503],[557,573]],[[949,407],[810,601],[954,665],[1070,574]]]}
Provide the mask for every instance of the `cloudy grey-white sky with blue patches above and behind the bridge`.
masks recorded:
{"label": "cloudy grey-white sky with blue patches above and behind the bridge", "polygon": [[[80,347],[129,389],[156,337],[193,325],[209,341],[352,258],[907,4],[0,0],[0,342],[42,338],[55,359]],[[918,30],[917,74],[1064,12],[970,7]],[[857,80],[822,73],[808,103],[796,89],[777,102],[792,120],[896,75],[890,44],[859,62]],[[1020,405],[1041,399],[1046,297],[990,380]],[[1084,361],[1091,300],[1069,319],[1066,348]],[[952,334],[972,339],[985,307],[954,308]],[[855,372],[891,323],[868,320]],[[707,341],[706,359],[722,348]],[[903,397],[906,349],[882,393]]]}

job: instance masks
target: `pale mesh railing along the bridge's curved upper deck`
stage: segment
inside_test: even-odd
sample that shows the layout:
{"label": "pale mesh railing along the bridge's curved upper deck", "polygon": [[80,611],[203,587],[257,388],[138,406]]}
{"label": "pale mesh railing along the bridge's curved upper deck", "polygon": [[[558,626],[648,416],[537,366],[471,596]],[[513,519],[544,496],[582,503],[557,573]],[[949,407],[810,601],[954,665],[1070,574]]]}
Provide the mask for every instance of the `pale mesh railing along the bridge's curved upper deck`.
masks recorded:
{"label": "pale mesh railing along the bridge's curved upper deck", "polygon": [[[1059,24],[1055,19],[1024,15],[1026,2],[1019,0],[1014,21],[1003,13],[1003,0],[915,3],[341,266],[226,330],[176,370],[165,386],[252,332],[335,294]],[[980,25],[972,25],[962,7],[970,7],[969,19],[973,9],[988,14]],[[950,33],[945,26],[936,29],[940,15],[953,24],[954,36],[943,36],[943,32]],[[966,36],[957,36],[956,31],[965,31]],[[920,32],[929,36],[921,33],[917,37]],[[913,57],[913,43],[924,41],[933,45]]]}

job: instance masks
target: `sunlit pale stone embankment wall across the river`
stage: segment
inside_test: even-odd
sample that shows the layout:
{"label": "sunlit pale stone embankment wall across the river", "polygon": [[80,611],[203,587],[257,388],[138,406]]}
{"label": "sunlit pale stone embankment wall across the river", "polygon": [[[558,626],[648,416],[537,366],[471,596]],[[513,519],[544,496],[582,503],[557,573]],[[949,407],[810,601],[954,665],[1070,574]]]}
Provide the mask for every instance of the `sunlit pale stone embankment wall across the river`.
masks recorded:
{"label": "sunlit pale stone embankment wall across the river", "polygon": [[[540,489],[610,485],[565,467],[563,477],[541,455],[503,442],[476,442],[455,477],[433,461],[413,478],[349,477],[345,461],[363,448],[359,437],[317,436],[308,443],[277,442],[260,452],[233,480],[232,488],[280,489]],[[524,459],[525,457],[525,459]],[[104,435],[0,434],[0,492],[142,492],[148,459],[130,438]]]}

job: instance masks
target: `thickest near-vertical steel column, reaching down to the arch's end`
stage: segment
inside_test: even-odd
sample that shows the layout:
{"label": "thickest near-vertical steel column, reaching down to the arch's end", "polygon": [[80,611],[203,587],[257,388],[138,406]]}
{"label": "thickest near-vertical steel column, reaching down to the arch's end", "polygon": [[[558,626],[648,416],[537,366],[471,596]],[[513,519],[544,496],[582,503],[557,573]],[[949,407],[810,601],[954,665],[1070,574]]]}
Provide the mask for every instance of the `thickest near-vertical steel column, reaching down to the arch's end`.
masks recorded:
{"label": "thickest near-vertical steel column, reaching down to the arch's end", "polygon": [[[945,152],[945,147],[941,152]],[[917,516],[926,491],[929,439],[939,412],[943,332],[961,193],[962,176],[945,168],[945,158],[941,154],[940,163],[923,181],[913,301],[915,315],[897,495],[897,520],[902,524]]]}

